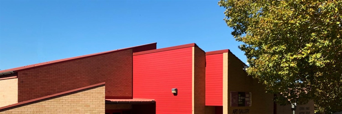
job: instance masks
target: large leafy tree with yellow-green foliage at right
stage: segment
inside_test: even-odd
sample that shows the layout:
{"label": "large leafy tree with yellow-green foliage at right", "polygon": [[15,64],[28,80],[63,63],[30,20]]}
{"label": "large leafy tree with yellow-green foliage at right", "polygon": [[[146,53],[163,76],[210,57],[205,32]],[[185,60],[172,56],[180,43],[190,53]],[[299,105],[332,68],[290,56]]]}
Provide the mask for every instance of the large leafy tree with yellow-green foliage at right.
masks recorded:
{"label": "large leafy tree with yellow-green foliage at right", "polygon": [[278,103],[342,110],[341,0],[221,0],[225,22],[250,64],[248,74]]}

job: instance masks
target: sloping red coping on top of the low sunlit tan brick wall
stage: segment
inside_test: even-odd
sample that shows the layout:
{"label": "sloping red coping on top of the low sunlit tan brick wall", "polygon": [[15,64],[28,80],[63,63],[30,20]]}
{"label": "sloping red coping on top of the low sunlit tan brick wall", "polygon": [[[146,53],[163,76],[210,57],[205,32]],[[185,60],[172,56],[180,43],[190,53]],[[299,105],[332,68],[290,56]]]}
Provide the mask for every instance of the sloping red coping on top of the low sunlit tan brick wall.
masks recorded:
{"label": "sloping red coping on top of the low sunlit tan brick wall", "polygon": [[90,86],[86,86],[86,87],[81,87],[81,88],[73,89],[73,90],[69,90],[69,91],[64,91],[64,92],[52,94],[52,95],[49,95],[49,96],[40,97],[40,98],[37,98],[37,99],[32,99],[32,100],[28,100],[28,101],[24,101],[24,102],[15,103],[15,104],[12,104],[12,105],[0,107],[0,110],[7,109],[9,107],[13,107],[13,106],[17,106],[17,105],[22,105],[22,104],[26,104],[26,103],[30,103],[30,102],[35,102],[35,101],[51,98],[51,97],[60,96],[60,95],[63,95],[63,94],[67,94],[67,93],[71,93],[71,92],[75,92],[75,91],[79,91],[79,90],[83,90],[83,89],[88,89],[88,88],[92,88],[92,87],[96,87],[96,86],[101,86],[101,85],[105,85],[105,82],[99,83],[99,84],[90,85]]}

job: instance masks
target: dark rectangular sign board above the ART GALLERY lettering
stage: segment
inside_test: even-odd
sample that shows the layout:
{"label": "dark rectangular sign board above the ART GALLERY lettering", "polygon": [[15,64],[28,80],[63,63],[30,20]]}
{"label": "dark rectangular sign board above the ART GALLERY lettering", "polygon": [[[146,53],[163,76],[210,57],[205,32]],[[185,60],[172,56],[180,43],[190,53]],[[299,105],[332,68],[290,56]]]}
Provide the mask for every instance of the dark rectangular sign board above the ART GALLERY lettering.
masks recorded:
{"label": "dark rectangular sign board above the ART GALLERY lettering", "polygon": [[231,106],[252,106],[252,92],[231,91]]}

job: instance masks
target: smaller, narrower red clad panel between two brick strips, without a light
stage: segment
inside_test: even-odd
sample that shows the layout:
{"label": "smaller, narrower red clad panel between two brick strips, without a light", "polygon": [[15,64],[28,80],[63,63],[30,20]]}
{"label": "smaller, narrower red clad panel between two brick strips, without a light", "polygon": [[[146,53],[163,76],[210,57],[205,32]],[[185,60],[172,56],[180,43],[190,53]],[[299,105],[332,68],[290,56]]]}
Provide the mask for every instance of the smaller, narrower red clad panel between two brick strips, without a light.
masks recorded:
{"label": "smaller, narrower red clad panel between two brick strips, without a light", "polygon": [[206,105],[222,106],[223,54],[206,55]]}

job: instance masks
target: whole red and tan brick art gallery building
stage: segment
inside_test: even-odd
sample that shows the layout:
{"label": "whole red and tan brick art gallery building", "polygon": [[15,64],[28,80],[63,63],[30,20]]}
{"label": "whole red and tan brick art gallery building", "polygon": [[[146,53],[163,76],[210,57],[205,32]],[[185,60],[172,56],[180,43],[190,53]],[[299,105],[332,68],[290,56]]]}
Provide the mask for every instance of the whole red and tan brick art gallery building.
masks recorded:
{"label": "whole red and tan brick art gallery building", "polygon": [[[229,50],[156,45],[0,71],[0,114],[292,113]],[[313,102],[297,107],[296,114],[314,114]]]}

